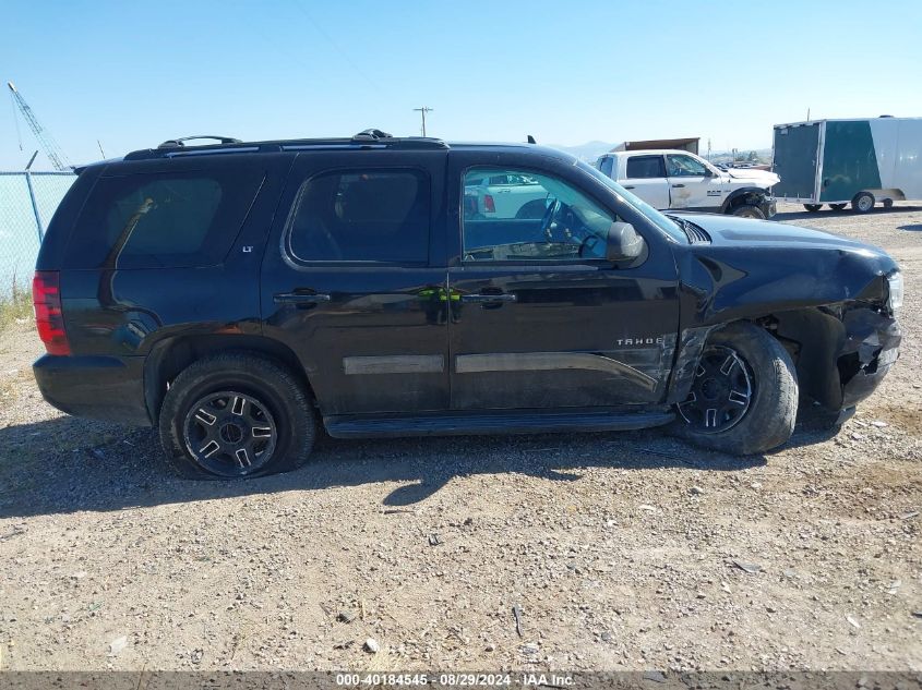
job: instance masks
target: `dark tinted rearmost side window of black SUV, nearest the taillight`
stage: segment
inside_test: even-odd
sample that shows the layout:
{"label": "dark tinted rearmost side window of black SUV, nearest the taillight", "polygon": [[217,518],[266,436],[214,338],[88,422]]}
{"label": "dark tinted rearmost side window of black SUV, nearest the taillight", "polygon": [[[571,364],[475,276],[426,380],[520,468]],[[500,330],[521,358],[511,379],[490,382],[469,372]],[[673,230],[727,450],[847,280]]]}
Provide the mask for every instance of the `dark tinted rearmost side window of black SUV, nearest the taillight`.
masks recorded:
{"label": "dark tinted rearmost side window of black SUV, nearest the taillight", "polygon": [[253,170],[100,178],[65,268],[182,268],[224,261],[260,187]]}

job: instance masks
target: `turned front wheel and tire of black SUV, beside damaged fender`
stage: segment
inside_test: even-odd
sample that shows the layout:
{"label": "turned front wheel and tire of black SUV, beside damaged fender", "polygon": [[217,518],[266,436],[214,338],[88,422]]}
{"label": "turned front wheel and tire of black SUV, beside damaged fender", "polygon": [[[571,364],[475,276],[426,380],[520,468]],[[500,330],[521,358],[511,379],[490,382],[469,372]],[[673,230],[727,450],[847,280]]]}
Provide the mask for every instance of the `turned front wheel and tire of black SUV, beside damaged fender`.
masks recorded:
{"label": "turned front wheel and tire of black SUV, beside damaged fender", "polygon": [[797,373],[788,351],[766,330],[738,322],[714,331],[698,372],[688,399],[676,405],[676,435],[733,455],[766,452],[791,437]]}

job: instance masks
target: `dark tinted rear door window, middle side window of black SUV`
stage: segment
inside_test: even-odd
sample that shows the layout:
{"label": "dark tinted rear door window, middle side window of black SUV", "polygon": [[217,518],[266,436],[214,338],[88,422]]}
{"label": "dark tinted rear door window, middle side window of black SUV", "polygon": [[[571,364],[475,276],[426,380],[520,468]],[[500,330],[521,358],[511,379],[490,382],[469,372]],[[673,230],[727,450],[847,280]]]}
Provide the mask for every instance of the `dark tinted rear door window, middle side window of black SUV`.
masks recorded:
{"label": "dark tinted rear door window, middle side window of black SUV", "polygon": [[419,170],[319,174],[298,194],[289,249],[306,262],[426,263],[429,196]]}

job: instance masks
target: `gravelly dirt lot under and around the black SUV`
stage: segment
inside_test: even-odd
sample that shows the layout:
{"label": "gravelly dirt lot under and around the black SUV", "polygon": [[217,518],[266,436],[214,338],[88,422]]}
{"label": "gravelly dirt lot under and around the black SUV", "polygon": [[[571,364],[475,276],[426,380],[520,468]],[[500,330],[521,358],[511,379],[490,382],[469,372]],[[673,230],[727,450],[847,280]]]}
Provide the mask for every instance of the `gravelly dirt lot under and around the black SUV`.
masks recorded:
{"label": "gravelly dirt lot under and around the black SUV", "polygon": [[7,330],[0,668],[922,670],[922,207],[783,211],[894,254],[906,340],[838,436],[767,458],[325,438],[289,475],[180,481],[152,432],[45,404]]}

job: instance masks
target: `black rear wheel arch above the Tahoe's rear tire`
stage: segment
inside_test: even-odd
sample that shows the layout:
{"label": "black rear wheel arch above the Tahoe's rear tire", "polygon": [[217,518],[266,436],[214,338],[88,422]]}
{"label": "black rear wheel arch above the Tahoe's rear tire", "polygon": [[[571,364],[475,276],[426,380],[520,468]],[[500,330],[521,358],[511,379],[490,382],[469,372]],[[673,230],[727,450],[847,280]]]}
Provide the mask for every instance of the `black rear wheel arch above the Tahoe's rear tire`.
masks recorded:
{"label": "black rear wheel arch above the Tahoe's rear tire", "polygon": [[231,351],[254,354],[284,366],[304,387],[310,400],[316,400],[310,377],[298,356],[277,340],[250,335],[177,336],[157,342],[144,363],[144,402],[154,424],[159,420],[167,386],[182,370],[211,354]]}

